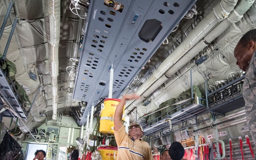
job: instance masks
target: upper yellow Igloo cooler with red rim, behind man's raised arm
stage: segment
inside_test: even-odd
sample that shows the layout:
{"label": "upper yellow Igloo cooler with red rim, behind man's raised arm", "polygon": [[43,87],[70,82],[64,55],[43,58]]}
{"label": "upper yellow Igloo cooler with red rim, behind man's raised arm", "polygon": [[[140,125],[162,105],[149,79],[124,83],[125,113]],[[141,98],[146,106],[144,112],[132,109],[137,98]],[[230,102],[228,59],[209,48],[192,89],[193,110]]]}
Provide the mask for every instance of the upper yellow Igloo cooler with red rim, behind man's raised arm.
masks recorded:
{"label": "upper yellow Igloo cooler with red rim, behind man's raised arm", "polygon": [[[119,104],[120,99],[105,99],[104,105],[102,104],[99,132],[103,134],[114,134],[114,115],[116,106]],[[125,107],[124,110],[125,111]],[[124,118],[124,112],[122,119]]]}

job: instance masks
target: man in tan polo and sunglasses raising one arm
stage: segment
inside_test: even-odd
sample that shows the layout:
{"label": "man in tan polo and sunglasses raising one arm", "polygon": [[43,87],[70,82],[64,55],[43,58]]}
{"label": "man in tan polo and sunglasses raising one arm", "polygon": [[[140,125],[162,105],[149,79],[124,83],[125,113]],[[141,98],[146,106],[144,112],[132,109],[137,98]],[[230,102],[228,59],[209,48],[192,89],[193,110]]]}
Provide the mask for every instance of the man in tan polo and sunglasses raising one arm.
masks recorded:
{"label": "man in tan polo and sunglasses raising one arm", "polygon": [[132,123],[129,128],[129,134],[126,133],[122,124],[123,108],[126,100],[138,99],[136,94],[125,95],[116,107],[114,116],[114,135],[118,146],[117,160],[153,160],[151,147],[143,141],[143,128]]}

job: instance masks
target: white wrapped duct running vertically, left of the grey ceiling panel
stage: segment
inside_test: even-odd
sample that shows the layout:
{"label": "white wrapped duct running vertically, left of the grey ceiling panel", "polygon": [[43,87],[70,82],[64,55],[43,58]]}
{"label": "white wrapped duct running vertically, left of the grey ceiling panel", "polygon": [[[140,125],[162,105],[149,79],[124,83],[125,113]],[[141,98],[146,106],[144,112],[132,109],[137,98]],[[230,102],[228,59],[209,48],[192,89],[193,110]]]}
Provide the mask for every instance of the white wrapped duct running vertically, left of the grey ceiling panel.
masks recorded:
{"label": "white wrapped duct running vertically, left of the grey ceiling panel", "polygon": [[58,44],[60,41],[60,0],[45,0],[44,25],[48,42],[49,67],[52,79],[52,119],[57,119]]}

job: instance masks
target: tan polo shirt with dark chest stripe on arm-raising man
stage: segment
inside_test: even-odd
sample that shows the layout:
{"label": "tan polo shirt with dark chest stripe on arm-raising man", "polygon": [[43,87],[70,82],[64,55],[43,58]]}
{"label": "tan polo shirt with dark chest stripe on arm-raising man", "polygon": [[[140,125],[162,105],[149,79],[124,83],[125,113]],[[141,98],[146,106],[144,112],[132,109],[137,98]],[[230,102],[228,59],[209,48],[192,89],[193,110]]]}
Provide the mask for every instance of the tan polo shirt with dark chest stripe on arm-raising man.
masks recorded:
{"label": "tan polo shirt with dark chest stripe on arm-raising man", "polygon": [[114,130],[114,135],[118,146],[117,160],[153,160],[148,143],[140,138],[131,140],[124,126],[118,131]]}

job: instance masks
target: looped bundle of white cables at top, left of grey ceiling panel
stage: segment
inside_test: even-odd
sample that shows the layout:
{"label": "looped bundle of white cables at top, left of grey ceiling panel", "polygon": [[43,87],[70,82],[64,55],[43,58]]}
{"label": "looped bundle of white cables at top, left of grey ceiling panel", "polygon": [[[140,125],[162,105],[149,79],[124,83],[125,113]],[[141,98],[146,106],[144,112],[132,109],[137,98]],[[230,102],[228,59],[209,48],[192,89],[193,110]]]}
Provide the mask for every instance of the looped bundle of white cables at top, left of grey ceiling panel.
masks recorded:
{"label": "looped bundle of white cables at top, left of grey ceiling panel", "polygon": [[87,17],[90,0],[71,0],[70,11],[81,19]]}

